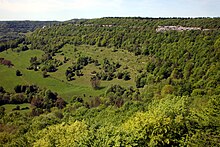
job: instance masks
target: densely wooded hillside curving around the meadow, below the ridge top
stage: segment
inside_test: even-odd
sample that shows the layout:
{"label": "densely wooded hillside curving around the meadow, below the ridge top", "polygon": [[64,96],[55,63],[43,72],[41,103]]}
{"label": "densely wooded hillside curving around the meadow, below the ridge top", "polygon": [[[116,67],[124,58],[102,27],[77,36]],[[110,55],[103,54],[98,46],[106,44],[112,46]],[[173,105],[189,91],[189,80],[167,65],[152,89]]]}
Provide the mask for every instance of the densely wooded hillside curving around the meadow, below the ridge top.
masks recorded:
{"label": "densely wooded hillside curving around the meadow, below the ridge top", "polygon": [[[172,85],[176,95],[206,94],[215,93],[219,85],[219,22],[219,18],[103,18],[39,29],[28,41],[30,48],[48,54],[58,52],[65,44],[125,49],[145,57],[145,67],[136,77],[137,88],[162,82]],[[158,25],[210,30],[161,33],[155,31]]]}

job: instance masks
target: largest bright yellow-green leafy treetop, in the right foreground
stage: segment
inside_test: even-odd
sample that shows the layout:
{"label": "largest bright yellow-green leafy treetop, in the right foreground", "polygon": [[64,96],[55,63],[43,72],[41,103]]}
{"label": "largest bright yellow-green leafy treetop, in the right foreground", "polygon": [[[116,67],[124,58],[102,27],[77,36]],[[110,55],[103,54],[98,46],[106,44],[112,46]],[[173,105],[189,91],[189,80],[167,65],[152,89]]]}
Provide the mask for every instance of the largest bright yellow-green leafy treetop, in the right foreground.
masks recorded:
{"label": "largest bright yellow-green leafy treetop, in the right foreground", "polygon": [[[195,136],[198,139],[196,145],[208,144],[202,141],[203,137],[217,145],[215,139],[218,136],[212,135],[212,139],[208,136],[210,129],[219,125],[210,125],[212,120],[205,118],[206,114],[194,112],[189,104],[188,97],[167,97],[159,103],[153,103],[148,112],[137,113],[123,124],[123,130],[129,134],[129,141],[136,143],[136,146],[185,146],[194,142]],[[198,136],[199,132],[203,134]],[[217,132],[215,129],[212,130],[212,134]]]}

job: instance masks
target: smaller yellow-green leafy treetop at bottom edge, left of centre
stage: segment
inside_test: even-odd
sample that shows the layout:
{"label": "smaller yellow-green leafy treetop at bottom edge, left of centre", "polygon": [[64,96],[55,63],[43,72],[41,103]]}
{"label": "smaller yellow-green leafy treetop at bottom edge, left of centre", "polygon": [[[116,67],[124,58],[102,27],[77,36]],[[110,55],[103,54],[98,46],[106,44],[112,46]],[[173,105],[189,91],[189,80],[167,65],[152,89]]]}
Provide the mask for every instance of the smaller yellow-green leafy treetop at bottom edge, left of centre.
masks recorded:
{"label": "smaller yellow-green leafy treetop at bottom edge, left of centre", "polygon": [[82,146],[84,138],[88,136],[87,126],[83,122],[74,122],[70,125],[62,123],[50,126],[37,135],[34,146]]}

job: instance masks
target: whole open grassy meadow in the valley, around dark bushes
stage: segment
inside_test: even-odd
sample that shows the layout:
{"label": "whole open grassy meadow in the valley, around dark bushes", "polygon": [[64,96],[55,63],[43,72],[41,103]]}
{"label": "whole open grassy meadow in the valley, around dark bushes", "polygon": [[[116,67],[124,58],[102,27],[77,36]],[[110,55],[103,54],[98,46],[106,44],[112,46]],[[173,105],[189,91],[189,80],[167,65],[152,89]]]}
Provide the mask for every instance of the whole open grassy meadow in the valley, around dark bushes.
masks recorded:
{"label": "whole open grassy meadow in the valley, around dark bushes", "polygon": [[[77,51],[74,52],[74,48],[77,48]],[[55,58],[63,61],[64,56],[69,58],[69,61],[58,68],[58,71],[54,73],[49,73],[50,77],[43,78],[41,71],[30,71],[26,68],[29,66],[29,60],[31,57],[37,56],[41,57],[43,54],[39,50],[28,50],[25,52],[12,52],[8,50],[7,52],[1,52],[0,57],[11,60],[15,65],[13,68],[8,68],[6,66],[0,65],[0,85],[2,85],[6,91],[13,92],[14,87],[17,84],[36,84],[42,88],[51,89],[56,91],[60,96],[65,98],[67,101],[74,95],[82,96],[96,96],[103,94],[107,87],[111,84],[120,84],[122,86],[135,86],[135,75],[136,69],[143,67],[144,59],[137,59],[133,54],[118,50],[117,52],[112,52],[112,49],[108,48],[98,48],[93,46],[78,46],[74,47],[72,45],[65,45],[61,50],[64,55],[57,53]],[[98,59],[100,63],[103,62],[104,58],[108,58],[111,62],[119,62],[122,64],[120,71],[124,71],[124,67],[128,66],[127,71],[131,73],[131,80],[124,81],[114,79],[112,81],[101,81],[101,90],[93,90],[90,85],[90,73],[91,71],[100,71],[99,67],[90,64],[86,66],[82,72],[83,77],[75,77],[76,79],[68,82],[65,77],[66,69],[72,65],[72,62],[75,62],[79,55],[91,56],[93,59]],[[138,62],[137,62],[138,61]],[[21,77],[15,75],[16,70],[22,72]]]}

